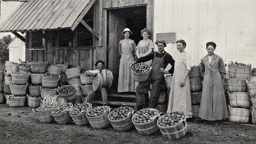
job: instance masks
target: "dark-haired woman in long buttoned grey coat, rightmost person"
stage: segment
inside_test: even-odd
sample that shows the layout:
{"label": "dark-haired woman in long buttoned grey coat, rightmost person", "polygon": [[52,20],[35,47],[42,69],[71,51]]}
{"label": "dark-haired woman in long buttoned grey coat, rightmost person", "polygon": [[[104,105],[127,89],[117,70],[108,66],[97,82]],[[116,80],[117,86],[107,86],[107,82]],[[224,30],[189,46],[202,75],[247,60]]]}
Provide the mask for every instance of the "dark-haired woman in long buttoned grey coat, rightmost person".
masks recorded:
{"label": "dark-haired woman in long buttoned grey coat, rightmost person", "polygon": [[214,54],[216,44],[206,43],[208,55],[201,59],[201,76],[204,80],[199,117],[204,120],[228,118],[222,79],[226,75],[223,59]]}

